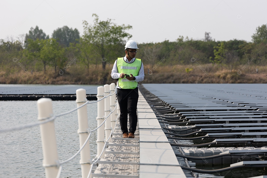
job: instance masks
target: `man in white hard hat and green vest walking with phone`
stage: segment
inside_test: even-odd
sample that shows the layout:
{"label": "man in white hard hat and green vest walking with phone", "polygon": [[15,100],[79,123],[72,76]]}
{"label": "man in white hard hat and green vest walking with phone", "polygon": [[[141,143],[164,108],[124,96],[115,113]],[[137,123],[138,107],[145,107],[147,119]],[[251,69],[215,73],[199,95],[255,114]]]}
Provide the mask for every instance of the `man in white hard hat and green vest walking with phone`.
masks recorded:
{"label": "man in white hard hat and green vest walking with phone", "polygon": [[[123,138],[134,138],[137,125],[138,82],[144,80],[144,66],[135,58],[137,44],[130,40],[125,45],[125,56],[117,58],[111,77],[117,79],[117,100],[120,106],[120,128]],[[129,132],[127,127],[129,114]]]}

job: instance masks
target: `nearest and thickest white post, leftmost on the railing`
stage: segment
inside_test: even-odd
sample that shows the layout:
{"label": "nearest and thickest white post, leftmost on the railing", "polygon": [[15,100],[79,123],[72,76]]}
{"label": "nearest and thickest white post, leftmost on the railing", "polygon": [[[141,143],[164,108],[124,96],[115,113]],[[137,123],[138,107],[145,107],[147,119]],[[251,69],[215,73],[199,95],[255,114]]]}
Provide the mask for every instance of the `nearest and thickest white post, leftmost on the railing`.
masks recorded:
{"label": "nearest and thickest white post, leftmost on the railing", "polygon": [[[38,120],[53,116],[52,100],[50,98],[41,98],[37,101]],[[43,166],[45,167],[46,178],[54,178],[58,173],[57,142],[55,135],[54,121],[46,122],[40,125],[42,147],[44,154]]]}

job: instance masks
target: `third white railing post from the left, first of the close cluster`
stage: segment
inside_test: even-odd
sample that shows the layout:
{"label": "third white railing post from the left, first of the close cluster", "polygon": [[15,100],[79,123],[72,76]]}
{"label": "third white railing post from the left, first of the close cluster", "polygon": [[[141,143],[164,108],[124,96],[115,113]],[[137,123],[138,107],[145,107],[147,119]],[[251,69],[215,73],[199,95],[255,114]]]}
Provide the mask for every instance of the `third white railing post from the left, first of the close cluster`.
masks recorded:
{"label": "third white railing post from the left, first of the close cluster", "polygon": [[[104,97],[104,86],[99,86],[97,87],[97,100],[100,100],[101,98]],[[97,127],[100,126],[100,124],[104,121],[104,117],[105,117],[105,111],[104,111],[104,103],[105,103],[105,99],[101,100],[99,102],[97,102]],[[105,128],[104,128],[104,124],[101,125],[101,127],[99,127],[97,129],[97,158],[103,158],[104,157],[104,152],[103,154],[100,156],[100,153],[102,152],[102,150],[104,149],[104,144],[105,144]]]}

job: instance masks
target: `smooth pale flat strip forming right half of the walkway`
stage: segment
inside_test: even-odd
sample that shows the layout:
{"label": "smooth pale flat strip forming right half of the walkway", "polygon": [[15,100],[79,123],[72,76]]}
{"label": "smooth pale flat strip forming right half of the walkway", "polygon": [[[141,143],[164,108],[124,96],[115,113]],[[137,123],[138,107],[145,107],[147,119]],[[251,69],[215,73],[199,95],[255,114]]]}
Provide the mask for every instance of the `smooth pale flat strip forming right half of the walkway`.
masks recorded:
{"label": "smooth pale flat strip forming right half of the walkway", "polygon": [[186,178],[167,137],[160,129],[155,113],[140,91],[137,110],[140,137],[139,177]]}

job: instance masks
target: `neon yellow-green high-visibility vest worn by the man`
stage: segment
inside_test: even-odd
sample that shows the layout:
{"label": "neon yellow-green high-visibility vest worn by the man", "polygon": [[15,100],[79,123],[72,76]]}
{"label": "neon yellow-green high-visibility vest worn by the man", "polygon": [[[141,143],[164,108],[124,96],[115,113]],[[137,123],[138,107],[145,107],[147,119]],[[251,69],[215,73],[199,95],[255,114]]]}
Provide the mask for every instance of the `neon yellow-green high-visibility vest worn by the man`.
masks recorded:
{"label": "neon yellow-green high-visibility vest worn by the man", "polygon": [[[131,76],[138,76],[139,70],[141,68],[142,60],[135,58],[132,63],[127,63],[124,61],[123,57],[117,59],[117,69],[118,73],[124,73]],[[119,78],[118,85],[122,89],[134,89],[138,86],[138,82],[134,80],[128,80],[127,78]]]}

